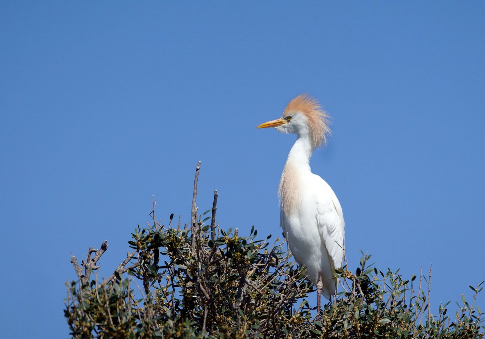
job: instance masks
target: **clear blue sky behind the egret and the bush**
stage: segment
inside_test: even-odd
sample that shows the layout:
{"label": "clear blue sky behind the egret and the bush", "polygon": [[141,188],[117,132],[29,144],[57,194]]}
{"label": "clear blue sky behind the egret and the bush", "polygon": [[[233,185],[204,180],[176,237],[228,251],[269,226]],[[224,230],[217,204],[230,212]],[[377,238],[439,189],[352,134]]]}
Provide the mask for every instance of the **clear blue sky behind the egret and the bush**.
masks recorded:
{"label": "clear blue sky behind the egret and the bush", "polygon": [[[311,166],[334,189],[351,267],[433,263],[433,312],[485,279],[485,3],[2,1],[5,338],[65,338],[70,253],[190,220],[281,234],[292,135],[256,129],[307,92],[333,117]],[[313,299],[311,299],[313,300]],[[484,294],[478,305],[485,308]],[[14,332],[15,330],[15,332]]]}

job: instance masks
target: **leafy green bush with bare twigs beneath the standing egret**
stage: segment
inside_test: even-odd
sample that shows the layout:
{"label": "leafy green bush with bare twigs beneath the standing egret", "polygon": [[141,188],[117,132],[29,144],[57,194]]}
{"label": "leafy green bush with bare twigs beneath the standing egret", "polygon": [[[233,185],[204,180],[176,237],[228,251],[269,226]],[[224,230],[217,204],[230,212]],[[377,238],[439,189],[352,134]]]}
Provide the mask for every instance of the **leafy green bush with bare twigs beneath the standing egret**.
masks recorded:
{"label": "leafy green bush with bare twigs beneath the standing egret", "polygon": [[[404,279],[379,271],[362,253],[335,274],[340,292],[315,314],[305,268],[291,260],[284,239],[220,228],[212,209],[198,213],[197,165],[190,225],[136,227],[114,273],[99,281],[97,262],[108,249],[90,247],[71,258],[78,279],[67,283],[65,317],[73,338],[483,338],[483,313],[464,297],[430,309],[429,274]],[[206,217],[211,212],[211,215]],[[208,222],[208,224],[206,224]],[[92,254],[95,254],[91,258]],[[426,275],[426,276],[425,276]],[[453,313],[453,314],[451,314]],[[481,318],[482,317],[482,318]]]}

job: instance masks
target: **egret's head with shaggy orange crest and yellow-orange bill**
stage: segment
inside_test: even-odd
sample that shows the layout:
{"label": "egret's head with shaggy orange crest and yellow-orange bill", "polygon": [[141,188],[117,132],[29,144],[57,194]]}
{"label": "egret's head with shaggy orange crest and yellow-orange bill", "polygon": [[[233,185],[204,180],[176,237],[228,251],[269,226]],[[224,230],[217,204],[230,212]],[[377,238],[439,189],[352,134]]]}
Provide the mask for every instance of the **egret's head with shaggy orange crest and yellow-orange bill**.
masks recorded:
{"label": "egret's head with shaggy orange crest and yellow-orange bill", "polygon": [[322,110],[316,99],[306,94],[291,99],[281,118],[265,122],[259,129],[274,127],[281,133],[294,133],[308,137],[312,148],[326,143],[330,134],[330,116]]}

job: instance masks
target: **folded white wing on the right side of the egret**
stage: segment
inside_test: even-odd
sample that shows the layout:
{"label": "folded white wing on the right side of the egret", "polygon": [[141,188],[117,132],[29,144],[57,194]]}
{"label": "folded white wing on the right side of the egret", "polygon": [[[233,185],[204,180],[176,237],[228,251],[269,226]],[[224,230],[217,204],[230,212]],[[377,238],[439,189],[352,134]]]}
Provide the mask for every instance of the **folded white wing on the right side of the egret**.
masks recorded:
{"label": "folded white wing on the right side of the egret", "polygon": [[316,194],[320,237],[335,269],[342,266],[345,222],[337,196],[322,178],[318,179],[321,180],[318,185],[321,191]]}

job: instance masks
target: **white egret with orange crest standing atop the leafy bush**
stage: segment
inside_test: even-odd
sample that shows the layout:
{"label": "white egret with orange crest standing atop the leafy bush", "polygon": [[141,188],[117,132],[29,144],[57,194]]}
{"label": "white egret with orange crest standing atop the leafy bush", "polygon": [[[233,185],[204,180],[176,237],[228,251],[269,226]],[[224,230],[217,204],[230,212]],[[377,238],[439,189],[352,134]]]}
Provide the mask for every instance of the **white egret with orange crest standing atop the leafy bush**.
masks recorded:
{"label": "white egret with orange crest standing atop the leafy bush", "polygon": [[317,288],[317,312],[321,293],[330,299],[337,292],[334,273],[342,265],[345,238],[339,200],[309,165],[313,150],[330,134],[329,118],[316,99],[302,94],[290,101],[281,118],[258,126],[297,135],[279,183],[280,226],[293,257],[307,267],[307,278]]}

